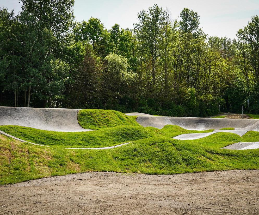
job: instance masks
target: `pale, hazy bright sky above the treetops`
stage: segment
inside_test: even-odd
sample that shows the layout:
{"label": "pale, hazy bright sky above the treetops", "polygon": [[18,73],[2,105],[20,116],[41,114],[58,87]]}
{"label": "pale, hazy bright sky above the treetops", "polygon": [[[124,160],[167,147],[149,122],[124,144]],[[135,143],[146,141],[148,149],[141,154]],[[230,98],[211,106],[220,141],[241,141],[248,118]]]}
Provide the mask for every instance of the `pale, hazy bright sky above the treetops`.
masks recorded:
{"label": "pale, hazy bright sky above the treetops", "polygon": [[[107,29],[115,23],[121,28],[132,28],[137,14],[158,4],[171,12],[177,19],[183,8],[198,12],[200,27],[208,36],[236,38],[238,29],[247,25],[254,15],[259,15],[259,0],[75,0],[74,14],[77,21],[88,20],[91,16],[101,19]],[[0,0],[0,7],[21,10],[19,0]]]}

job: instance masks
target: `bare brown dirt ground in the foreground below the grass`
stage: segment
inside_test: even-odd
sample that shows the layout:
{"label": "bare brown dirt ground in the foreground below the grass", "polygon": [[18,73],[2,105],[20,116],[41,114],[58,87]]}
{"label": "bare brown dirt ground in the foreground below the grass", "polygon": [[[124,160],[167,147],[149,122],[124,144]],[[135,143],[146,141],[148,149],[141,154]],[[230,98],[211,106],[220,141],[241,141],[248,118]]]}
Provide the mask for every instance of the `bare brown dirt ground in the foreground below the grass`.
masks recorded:
{"label": "bare brown dirt ground in the foreground below the grass", "polygon": [[0,214],[259,214],[259,170],[91,172],[0,186]]}

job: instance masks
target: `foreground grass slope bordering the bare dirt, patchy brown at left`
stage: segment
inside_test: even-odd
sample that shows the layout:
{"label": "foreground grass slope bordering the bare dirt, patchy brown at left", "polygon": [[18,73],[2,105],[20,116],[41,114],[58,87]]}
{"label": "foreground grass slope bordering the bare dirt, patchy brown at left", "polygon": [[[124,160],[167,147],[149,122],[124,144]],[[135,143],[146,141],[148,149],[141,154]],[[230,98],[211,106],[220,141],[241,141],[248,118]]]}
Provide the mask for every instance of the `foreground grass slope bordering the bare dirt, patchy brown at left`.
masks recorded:
{"label": "foreground grass slope bordering the bare dirt, patchy brown at left", "polygon": [[0,135],[0,184],[86,171],[175,174],[259,169],[259,149],[220,149],[233,140],[258,139],[259,132],[251,131],[243,137],[215,133],[184,141],[157,135],[111,150],[65,150],[21,143]]}

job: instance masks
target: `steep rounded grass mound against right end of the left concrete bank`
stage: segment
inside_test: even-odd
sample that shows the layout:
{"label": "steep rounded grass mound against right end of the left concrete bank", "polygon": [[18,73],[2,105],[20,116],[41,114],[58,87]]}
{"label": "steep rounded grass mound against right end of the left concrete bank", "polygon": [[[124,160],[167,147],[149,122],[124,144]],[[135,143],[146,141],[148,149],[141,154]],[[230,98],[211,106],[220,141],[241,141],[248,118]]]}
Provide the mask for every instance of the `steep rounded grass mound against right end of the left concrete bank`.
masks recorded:
{"label": "steep rounded grass mound against right end of the left concrete bank", "polygon": [[114,110],[87,109],[80,110],[77,115],[78,123],[84,129],[103,129],[120,125],[140,126],[134,118]]}

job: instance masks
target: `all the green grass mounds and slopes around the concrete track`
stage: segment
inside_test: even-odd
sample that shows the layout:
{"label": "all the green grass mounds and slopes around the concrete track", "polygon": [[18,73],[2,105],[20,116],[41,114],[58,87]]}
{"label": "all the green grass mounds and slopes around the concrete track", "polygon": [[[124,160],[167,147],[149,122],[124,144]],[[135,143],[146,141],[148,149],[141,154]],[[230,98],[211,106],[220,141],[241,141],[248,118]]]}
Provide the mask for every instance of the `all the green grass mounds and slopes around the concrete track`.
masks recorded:
{"label": "all the green grass mounds and slopes around the concrete track", "polygon": [[[176,125],[163,129],[142,127],[117,111],[81,110],[78,121],[89,132],[55,132],[4,125],[0,130],[41,145],[21,143],[0,135],[0,184],[87,171],[176,174],[231,169],[259,169],[259,149],[227,150],[235,142],[254,142],[259,132],[243,137],[215,133],[197,140],[175,140],[190,131]],[[226,129],[226,128],[225,128]],[[231,128],[229,128],[231,129]],[[109,150],[62,149],[105,147],[131,142]]]}

